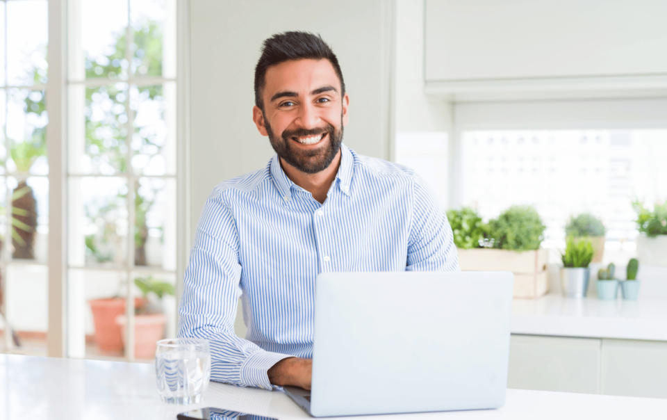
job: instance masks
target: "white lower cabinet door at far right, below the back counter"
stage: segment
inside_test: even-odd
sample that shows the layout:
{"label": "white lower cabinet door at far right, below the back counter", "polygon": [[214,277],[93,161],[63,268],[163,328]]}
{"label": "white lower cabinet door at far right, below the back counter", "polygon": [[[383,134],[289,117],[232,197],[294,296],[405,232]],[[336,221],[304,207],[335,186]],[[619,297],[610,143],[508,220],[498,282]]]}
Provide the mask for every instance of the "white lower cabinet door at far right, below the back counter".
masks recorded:
{"label": "white lower cabinet door at far right, below the back counter", "polygon": [[667,398],[667,342],[602,339],[602,394]]}

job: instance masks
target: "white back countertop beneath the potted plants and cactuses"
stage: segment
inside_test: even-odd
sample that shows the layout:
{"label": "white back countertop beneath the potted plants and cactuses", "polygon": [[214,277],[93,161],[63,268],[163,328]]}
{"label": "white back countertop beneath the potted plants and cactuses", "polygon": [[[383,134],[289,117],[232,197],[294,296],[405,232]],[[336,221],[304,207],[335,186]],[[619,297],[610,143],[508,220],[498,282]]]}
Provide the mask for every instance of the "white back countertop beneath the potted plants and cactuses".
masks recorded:
{"label": "white back countertop beneath the potted plants and cactuses", "polygon": [[667,341],[667,299],[515,299],[512,334]]}

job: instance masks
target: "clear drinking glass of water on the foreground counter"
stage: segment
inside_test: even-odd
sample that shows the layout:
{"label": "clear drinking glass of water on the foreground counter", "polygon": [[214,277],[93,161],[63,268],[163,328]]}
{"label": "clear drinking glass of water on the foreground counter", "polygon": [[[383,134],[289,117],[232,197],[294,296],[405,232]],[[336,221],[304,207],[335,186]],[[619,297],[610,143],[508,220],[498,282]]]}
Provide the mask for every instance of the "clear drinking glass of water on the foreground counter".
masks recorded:
{"label": "clear drinking glass of water on the foreground counter", "polygon": [[211,378],[211,349],[204,339],[166,339],[155,350],[158,394],[165,403],[195,404]]}

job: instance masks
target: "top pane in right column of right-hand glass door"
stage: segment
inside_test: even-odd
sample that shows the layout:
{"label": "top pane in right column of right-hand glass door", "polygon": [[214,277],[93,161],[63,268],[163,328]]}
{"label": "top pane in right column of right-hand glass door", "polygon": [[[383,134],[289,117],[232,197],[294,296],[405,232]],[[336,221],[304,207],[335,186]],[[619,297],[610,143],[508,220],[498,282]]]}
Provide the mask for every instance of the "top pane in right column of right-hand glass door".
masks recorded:
{"label": "top pane in right column of right-hand glass door", "polygon": [[[131,0],[133,31],[131,71],[135,76],[163,75],[163,62],[175,58],[175,42],[165,30],[175,33],[164,0]],[[165,42],[166,41],[166,42]],[[173,51],[173,52],[172,52]],[[171,63],[170,63],[171,64]],[[165,76],[170,76],[169,73]]]}

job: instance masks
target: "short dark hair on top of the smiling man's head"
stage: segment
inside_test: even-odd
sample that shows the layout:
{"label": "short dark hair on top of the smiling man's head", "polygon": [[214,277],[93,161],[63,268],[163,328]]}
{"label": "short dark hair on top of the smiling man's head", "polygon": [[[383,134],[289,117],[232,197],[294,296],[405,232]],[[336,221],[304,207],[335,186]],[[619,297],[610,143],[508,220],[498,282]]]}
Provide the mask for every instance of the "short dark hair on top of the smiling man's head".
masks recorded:
{"label": "short dark hair on top of the smiling man's head", "polygon": [[322,60],[322,58],[326,58],[334,66],[336,76],[340,80],[340,95],[345,95],[345,82],[343,81],[343,72],[340,71],[340,65],[338,65],[338,58],[319,34],[315,35],[303,31],[277,33],[264,40],[261,51],[262,56],[255,66],[255,105],[262,111],[264,111],[262,95],[266,86],[266,70],[272,65],[289,60],[302,60],[304,58]]}

